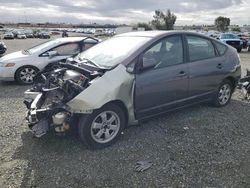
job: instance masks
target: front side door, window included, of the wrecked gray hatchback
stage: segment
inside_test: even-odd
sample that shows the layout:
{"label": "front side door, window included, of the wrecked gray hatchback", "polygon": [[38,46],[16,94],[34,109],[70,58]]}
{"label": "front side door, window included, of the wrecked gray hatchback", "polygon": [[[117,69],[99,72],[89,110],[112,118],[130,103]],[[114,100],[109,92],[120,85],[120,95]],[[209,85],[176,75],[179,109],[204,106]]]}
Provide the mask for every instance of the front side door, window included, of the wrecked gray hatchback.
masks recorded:
{"label": "front side door, window included, of the wrecked gray hatchback", "polygon": [[141,59],[142,70],[135,80],[136,117],[142,119],[178,108],[188,97],[188,67],[184,63],[182,36],[161,39]]}

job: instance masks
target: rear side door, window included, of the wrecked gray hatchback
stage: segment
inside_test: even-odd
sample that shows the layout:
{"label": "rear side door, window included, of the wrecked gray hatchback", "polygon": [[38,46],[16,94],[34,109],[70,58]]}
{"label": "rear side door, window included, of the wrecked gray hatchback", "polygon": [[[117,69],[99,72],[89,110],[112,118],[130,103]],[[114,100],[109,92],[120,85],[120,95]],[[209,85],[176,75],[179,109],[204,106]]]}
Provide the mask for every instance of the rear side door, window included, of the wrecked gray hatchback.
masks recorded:
{"label": "rear side door, window included, of the wrecked gray hatchback", "polygon": [[189,54],[189,96],[207,98],[223,80],[224,56],[219,56],[210,39],[186,35]]}

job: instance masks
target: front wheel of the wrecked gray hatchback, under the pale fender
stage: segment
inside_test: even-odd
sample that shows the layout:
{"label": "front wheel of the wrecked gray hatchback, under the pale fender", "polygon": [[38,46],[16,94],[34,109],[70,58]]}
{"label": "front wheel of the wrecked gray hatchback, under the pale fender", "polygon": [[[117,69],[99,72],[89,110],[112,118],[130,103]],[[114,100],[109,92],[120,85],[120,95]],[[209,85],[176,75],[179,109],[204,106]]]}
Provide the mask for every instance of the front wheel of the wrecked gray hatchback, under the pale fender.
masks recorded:
{"label": "front wheel of the wrecked gray hatchback, under the pale fender", "polygon": [[102,149],[114,144],[120,138],[125,124],[126,117],[123,110],[110,103],[90,115],[82,116],[78,123],[78,133],[88,148]]}

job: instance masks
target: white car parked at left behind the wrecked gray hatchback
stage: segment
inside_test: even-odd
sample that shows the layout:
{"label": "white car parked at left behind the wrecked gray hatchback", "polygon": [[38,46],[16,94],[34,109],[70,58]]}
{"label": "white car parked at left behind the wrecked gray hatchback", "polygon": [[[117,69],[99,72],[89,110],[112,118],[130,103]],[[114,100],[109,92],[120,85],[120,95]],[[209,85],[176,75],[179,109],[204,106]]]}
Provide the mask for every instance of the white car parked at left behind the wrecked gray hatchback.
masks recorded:
{"label": "white car parked at left behind the wrecked gray hatchback", "polygon": [[91,37],[68,37],[50,40],[0,58],[0,80],[32,84],[39,70],[53,62],[64,61],[99,42]]}

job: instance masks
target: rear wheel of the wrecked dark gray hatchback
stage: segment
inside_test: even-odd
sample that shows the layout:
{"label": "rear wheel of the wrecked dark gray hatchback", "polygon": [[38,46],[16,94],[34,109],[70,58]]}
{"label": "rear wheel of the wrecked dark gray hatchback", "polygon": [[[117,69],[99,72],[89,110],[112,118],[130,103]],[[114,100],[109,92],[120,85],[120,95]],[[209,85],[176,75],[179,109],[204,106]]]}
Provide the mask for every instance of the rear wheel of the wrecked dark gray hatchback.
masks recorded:
{"label": "rear wheel of the wrecked dark gray hatchback", "polygon": [[232,97],[233,86],[229,80],[224,80],[219,86],[213,100],[213,104],[216,107],[226,106]]}

